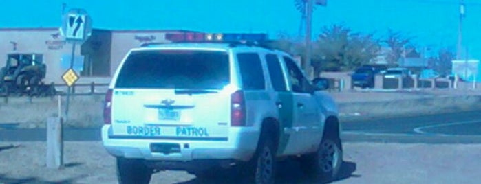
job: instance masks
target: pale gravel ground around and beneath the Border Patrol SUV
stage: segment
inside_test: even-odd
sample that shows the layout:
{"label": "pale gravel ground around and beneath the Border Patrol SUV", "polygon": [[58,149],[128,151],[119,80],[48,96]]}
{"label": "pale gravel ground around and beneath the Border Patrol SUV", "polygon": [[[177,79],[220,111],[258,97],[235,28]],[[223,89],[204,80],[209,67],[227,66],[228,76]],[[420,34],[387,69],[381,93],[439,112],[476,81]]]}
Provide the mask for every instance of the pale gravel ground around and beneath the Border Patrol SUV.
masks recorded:
{"label": "pale gravel ground around and beneath the Border Patrol SUV", "polygon": [[[44,142],[2,149],[9,144],[0,143],[0,183],[116,183],[115,160],[100,142],[66,142],[61,170],[45,168]],[[481,182],[481,145],[344,143],[344,150],[335,183]],[[279,164],[279,183],[312,183],[296,164]],[[167,171],[154,174],[151,183],[226,183],[226,178],[197,181],[186,172]]]}

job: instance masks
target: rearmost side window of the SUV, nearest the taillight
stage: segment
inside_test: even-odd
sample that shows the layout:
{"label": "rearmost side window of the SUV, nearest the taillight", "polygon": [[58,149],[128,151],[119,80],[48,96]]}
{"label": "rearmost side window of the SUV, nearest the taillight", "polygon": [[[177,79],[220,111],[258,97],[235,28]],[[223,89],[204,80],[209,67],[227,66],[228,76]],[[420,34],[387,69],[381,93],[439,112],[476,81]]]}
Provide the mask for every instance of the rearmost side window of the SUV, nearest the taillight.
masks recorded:
{"label": "rearmost side window of the SUV, nearest the taillight", "polygon": [[242,76],[242,87],[246,90],[266,89],[264,71],[259,54],[240,53],[237,54],[237,62]]}

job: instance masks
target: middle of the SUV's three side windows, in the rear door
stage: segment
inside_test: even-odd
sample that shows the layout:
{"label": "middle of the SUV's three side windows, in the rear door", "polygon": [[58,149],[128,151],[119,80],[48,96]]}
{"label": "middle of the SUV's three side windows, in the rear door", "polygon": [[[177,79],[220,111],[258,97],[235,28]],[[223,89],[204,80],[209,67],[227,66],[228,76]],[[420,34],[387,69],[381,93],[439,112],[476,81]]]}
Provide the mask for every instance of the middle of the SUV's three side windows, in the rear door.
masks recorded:
{"label": "middle of the SUV's three side windows, in the rear door", "polygon": [[287,91],[286,80],[282,71],[279,58],[275,54],[266,55],[267,67],[269,69],[269,76],[272,82],[272,87],[275,91]]}

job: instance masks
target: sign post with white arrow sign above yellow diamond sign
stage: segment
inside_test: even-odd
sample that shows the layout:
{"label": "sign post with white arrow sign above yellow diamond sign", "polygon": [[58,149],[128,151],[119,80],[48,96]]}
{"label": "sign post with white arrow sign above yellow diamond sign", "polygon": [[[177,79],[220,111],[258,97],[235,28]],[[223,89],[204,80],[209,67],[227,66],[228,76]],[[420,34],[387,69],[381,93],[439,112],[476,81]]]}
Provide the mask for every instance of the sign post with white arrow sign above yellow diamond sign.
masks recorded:
{"label": "sign post with white arrow sign above yellow diamond sign", "polygon": [[72,58],[70,68],[62,76],[63,81],[68,86],[67,102],[65,103],[65,120],[68,118],[70,95],[72,85],[80,78],[74,71],[75,48],[77,44],[82,44],[92,33],[92,20],[83,9],[72,9],[63,17],[61,31],[65,36],[65,41],[72,43]]}

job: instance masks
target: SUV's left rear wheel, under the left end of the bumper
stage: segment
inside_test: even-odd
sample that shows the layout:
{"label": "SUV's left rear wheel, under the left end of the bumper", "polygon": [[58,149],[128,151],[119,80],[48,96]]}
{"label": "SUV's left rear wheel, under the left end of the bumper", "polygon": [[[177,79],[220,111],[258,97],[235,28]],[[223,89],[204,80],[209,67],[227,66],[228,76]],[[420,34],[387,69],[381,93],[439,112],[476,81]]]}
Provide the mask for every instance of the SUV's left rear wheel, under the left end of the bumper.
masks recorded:
{"label": "SUV's left rear wheel, under the left end of the bumper", "polygon": [[153,170],[139,159],[117,158],[117,179],[120,184],[149,183]]}

